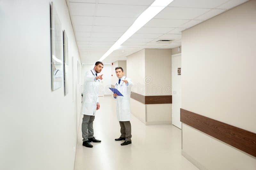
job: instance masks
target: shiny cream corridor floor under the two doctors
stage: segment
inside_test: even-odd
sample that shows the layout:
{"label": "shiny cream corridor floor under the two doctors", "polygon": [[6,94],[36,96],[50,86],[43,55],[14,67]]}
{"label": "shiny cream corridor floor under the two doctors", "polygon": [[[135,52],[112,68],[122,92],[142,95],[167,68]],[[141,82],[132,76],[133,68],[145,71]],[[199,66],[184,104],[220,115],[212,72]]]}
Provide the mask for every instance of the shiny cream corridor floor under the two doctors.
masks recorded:
{"label": "shiny cream corridor floor under the two doctors", "polygon": [[[197,170],[181,156],[181,130],[173,125],[146,126],[132,116],[132,144],[121,146],[115,101],[99,97],[100,110],[94,120],[94,136],[101,143],[82,146],[80,118],[75,170]],[[157,113],[156,113],[157,114]]]}

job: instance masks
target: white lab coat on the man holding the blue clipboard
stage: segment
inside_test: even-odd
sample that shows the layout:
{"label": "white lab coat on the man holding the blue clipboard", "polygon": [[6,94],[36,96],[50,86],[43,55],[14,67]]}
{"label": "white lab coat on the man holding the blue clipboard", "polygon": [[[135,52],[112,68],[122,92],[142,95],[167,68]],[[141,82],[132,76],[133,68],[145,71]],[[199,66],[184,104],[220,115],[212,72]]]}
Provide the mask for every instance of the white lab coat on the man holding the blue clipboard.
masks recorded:
{"label": "white lab coat on the man holding the blue clipboard", "polygon": [[[122,80],[127,80],[129,85],[126,86],[125,82]],[[116,96],[116,116],[118,121],[130,121],[131,120],[131,111],[130,111],[130,97],[132,90],[132,81],[131,79],[126,78],[125,76],[121,80],[120,84],[118,81],[115,84],[115,88],[120,91],[123,96]]]}

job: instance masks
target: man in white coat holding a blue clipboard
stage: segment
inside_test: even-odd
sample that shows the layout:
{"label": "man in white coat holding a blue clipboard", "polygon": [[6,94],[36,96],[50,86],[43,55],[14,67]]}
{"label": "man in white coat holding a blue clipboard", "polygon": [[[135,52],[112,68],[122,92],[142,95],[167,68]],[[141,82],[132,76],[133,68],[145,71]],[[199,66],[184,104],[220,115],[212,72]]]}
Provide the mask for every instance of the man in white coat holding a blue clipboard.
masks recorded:
{"label": "man in white coat holding a blue clipboard", "polygon": [[128,145],[132,143],[132,129],[131,129],[131,111],[130,111],[130,97],[132,89],[132,81],[124,76],[124,70],[122,67],[116,67],[116,76],[118,81],[116,82],[115,88],[123,96],[118,96],[116,93],[113,94],[116,101],[116,115],[121,127],[121,136],[116,138],[116,141],[125,140],[121,145]]}

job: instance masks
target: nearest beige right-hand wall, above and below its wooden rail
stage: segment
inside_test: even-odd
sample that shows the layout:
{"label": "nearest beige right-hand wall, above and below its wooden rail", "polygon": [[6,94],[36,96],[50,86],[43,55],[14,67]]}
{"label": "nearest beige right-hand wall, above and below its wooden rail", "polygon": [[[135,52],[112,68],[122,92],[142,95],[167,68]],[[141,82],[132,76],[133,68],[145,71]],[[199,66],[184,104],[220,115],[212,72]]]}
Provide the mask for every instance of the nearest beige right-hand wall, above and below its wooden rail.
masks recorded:
{"label": "nearest beige right-hand wall, above and below its wooden rail", "polygon": [[[181,59],[181,107],[254,133],[255,9],[251,0],[183,31]],[[182,131],[183,151],[207,169],[256,169],[255,157],[189,126]]]}

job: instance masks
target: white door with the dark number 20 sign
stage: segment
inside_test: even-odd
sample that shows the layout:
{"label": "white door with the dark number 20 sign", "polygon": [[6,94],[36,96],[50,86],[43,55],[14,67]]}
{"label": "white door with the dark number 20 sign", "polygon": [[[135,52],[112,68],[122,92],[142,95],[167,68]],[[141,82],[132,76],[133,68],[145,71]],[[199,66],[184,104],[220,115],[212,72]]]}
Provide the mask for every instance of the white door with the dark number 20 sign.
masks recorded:
{"label": "white door with the dark number 20 sign", "polygon": [[181,53],[172,55],[172,124],[181,129]]}

